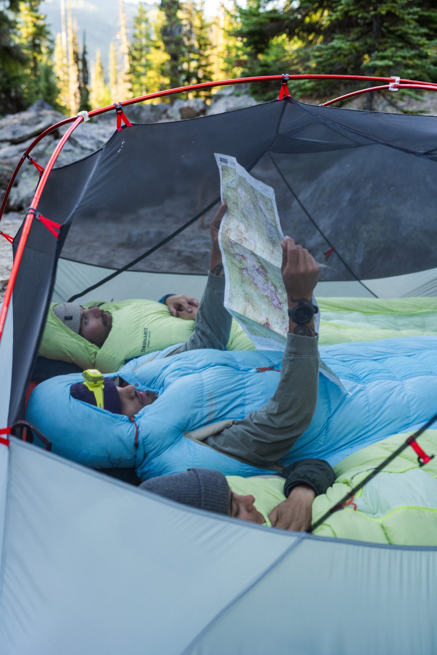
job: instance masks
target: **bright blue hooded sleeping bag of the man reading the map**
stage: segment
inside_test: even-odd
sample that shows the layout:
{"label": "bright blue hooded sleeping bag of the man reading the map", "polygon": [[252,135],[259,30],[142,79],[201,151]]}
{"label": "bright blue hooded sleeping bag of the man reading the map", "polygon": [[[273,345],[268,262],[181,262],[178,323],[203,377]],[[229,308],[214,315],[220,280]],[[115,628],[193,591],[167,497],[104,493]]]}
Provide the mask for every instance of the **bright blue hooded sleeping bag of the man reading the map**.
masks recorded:
{"label": "bright blue hooded sleeping bag of the man reading the map", "polygon": [[[137,358],[119,371],[139,390],[159,394],[134,417],[138,447],[136,425],[128,417],[71,398],[69,387],[81,375],[39,384],[26,417],[52,441],[54,453],[95,468],[135,467],[142,480],[193,466],[225,475],[265,473],[183,434],[259,409],[275,392],[279,373],[257,368],[280,368],[282,353],[194,350],[163,359],[164,354]],[[335,464],[436,412],[437,337],[342,343],[320,348],[320,356],[350,393],[319,375],[313,421],[284,464],[304,457]]]}

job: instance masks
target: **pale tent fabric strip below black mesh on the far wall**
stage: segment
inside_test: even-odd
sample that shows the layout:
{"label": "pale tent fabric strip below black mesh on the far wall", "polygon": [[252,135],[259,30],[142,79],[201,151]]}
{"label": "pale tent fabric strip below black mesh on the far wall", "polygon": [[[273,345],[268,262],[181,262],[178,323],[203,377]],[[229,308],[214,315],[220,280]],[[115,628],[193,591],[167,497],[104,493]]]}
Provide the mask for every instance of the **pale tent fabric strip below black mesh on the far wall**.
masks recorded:
{"label": "pale tent fabric strip below black mesh on the far wall", "polygon": [[[58,261],[56,282],[52,294],[53,303],[65,303],[75,293],[103,280],[113,272],[99,266],[92,266],[70,259]],[[363,280],[364,284],[379,298],[405,298],[437,295],[437,269],[397,275],[378,280]],[[147,298],[158,300],[166,293],[185,293],[195,298],[202,297],[206,276],[178,273],[153,273],[124,271],[94,291],[80,297],[81,303],[97,299],[128,300]],[[319,282],[317,297],[372,297],[371,293],[356,280],[351,282]]]}

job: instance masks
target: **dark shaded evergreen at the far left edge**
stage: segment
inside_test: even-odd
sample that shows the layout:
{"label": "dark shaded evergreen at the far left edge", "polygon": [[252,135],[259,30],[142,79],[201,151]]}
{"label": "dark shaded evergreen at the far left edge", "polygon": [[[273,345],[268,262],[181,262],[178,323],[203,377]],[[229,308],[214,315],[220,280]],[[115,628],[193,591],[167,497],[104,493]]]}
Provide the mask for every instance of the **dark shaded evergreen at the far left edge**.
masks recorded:
{"label": "dark shaded evergreen at the far left edge", "polygon": [[22,78],[26,55],[18,45],[16,15],[18,0],[10,0],[7,9],[0,5],[0,114],[23,108]]}

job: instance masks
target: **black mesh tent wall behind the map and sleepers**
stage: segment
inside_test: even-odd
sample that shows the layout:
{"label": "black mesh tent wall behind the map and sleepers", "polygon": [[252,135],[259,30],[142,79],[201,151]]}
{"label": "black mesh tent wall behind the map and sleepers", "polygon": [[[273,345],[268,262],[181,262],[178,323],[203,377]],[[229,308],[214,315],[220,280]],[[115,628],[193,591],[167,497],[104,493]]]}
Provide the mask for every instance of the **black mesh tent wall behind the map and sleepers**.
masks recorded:
{"label": "black mesh tent wall behind the map and sleepers", "polygon": [[[54,168],[43,189],[38,210],[62,227],[56,242],[33,222],[18,273],[9,424],[22,412],[59,255],[113,269],[112,276],[206,272],[204,225],[220,195],[214,153],[233,155],[273,186],[284,233],[311,250],[322,282],[354,281],[366,295],[378,295],[366,280],[437,268],[434,117],[284,98],[125,126],[90,157]],[[436,277],[421,295],[436,292]],[[98,282],[105,278],[102,271]],[[71,297],[86,291],[79,284]],[[90,286],[100,297],[99,284]]]}

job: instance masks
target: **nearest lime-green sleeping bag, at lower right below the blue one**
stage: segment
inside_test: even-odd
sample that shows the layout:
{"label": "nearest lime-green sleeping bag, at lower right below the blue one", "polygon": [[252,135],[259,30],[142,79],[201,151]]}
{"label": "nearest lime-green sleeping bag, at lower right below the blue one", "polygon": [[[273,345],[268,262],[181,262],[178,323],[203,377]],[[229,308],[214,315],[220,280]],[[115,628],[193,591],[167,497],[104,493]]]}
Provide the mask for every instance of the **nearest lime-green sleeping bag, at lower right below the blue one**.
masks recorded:
{"label": "nearest lime-green sleeping bag, at lower right below the blue one", "polygon": [[[313,502],[313,523],[389,457],[409,434],[373,443],[335,464],[335,482]],[[427,455],[437,455],[437,430],[426,430],[419,443]],[[437,546],[436,478],[437,457],[421,468],[417,454],[408,447],[313,534],[378,544]],[[258,512],[270,526],[270,512],[285,500],[284,478],[227,476],[227,482],[235,493],[254,496]]]}

